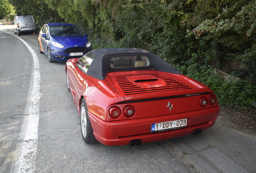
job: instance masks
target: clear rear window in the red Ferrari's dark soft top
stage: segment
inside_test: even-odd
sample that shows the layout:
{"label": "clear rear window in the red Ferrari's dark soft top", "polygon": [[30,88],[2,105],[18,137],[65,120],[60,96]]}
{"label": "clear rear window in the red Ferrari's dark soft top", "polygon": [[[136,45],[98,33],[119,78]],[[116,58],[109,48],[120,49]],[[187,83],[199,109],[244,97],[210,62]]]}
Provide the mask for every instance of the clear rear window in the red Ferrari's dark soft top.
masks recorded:
{"label": "clear rear window in the red Ferrari's dark soft top", "polygon": [[130,68],[149,66],[147,56],[120,56],[112,57],[110,62],[111,68]]}

